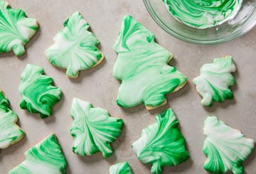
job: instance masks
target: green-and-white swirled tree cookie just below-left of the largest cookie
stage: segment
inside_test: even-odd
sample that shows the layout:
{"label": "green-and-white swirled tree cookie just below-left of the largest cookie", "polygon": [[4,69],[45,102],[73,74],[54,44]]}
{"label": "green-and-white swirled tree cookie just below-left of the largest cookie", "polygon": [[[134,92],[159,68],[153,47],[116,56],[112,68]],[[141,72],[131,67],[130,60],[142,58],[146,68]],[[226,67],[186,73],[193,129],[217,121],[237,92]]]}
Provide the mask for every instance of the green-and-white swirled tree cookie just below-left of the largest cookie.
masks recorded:
{"label": "green-and-white swirled tree cookie just below-left of the largest cookie", "polygon": [[90,156],[101,151],[104,158],[112,155],[110,143],[121,134],[122,119],[110,117],[107,110],[93,108],[90,102],[78,98],[73,99],[70,116],[74,119],[70,129],[74,153]]}

